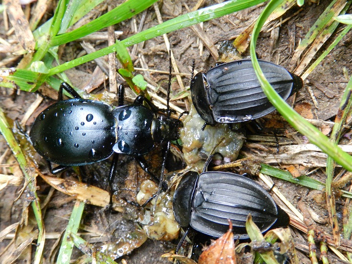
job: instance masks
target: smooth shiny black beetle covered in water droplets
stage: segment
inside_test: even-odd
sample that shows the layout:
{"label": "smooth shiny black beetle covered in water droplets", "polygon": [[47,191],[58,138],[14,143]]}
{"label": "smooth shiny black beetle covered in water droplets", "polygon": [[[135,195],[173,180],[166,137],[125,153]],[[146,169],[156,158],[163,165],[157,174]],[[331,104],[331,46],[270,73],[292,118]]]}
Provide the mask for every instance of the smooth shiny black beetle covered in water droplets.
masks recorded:
{"label": "smooth shiny black beetle covered in water droplets", "polygon": [[[62,100],[63,89],[74,99]],[[29,136],[35,150],[48,162],[51,173],[57,174],[70,166],[82,166],[102,161],[114,154],[109,173],[109,187],[114,177],[118,155],[135,156],[142,169],[149,171],[144,154],[150,152],[154,143],[177,140],[182,122],[159,115],[152,102],[139,95],[134,103],[123,106],[124,87],[119,87],[119,107],[88,99],[67,83],[62,83],[58,102],[49,106],[35,119]],[[147,108],[143,106],[146,102]],[[51,168],[51,162],[59,164]],[[110,197],[111,204],[111,197]]]}

